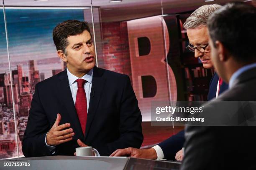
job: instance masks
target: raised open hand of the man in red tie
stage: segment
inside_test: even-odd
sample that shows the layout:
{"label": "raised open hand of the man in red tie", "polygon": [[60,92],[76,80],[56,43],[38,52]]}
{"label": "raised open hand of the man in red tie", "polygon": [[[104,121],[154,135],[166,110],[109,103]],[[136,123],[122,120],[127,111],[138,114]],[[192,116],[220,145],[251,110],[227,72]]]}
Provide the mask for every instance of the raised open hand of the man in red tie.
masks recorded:
{"label": "raised open hand of the man in red tie", "polygon": [[51,127],[49,133],[46,135],[47,145],[56,146],[72,140],[72,136],[74,136],[73,129],[69,128],[66,130],[62,130],[64,128],[70,127],[70,123],[59,125],[60,120],[61,115],[58,113],[54,125]]}

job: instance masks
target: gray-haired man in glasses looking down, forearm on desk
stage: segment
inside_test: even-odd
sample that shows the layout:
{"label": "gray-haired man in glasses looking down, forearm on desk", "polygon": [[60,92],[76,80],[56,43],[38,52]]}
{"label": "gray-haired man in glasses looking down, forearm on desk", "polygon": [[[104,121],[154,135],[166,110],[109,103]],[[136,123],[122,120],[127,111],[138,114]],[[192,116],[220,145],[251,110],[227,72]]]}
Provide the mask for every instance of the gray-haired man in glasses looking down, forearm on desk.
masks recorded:
{"label": "gray-haired man in glasses looking down, forearm on desk", "polygon": [[[221,5],[203,5],[195,10],[189,18],[187,18],[183,27],[187,30],[187,36],[189,39],[188,49],[195,52],[195,57],[199,58],[203,67],[213,68],[210,60],[210,46],[208,45],[209,36],[207,33],[207,19],[210,15],[218,10]],[[228,85],[224,82],[219,82],[219,77],[215,74],[210,82],[210,88],[208,93],[208,100],[218,97],[218,94],[228,89]],[[176,135],[172,135],[170,138],[164,140],[153,148],[149,149],[136,149],[125,148],[116,150],[110,156],[132,156],[135,158],[146,159],[168,159],[168,160],[182,160],[183,152],[182,147],[184,145],[184,130],[180,131]]]}

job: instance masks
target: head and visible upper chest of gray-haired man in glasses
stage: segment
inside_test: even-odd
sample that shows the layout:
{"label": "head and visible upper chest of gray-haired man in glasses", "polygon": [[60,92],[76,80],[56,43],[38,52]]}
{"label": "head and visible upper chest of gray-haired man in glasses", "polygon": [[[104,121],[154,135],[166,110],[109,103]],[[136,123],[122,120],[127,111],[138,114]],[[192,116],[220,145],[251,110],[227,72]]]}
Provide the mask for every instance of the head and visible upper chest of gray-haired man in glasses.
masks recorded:
{"label": "head and visible upper chest of gray-haired man in glasses", "polygon": [[[188,49],[195,52],[195,58],[199,58],[203,67],[213,68],[210,60],[210,45],[209,35],[207,33],[207,19],[215,11],[220,9],[220,5],[203,5],[193,12],[187,18],[183,27],[187,30],[187,37],[189,39]],[[210,88],[207,100],[217,98],[218,95],[228,89],[228,84],[223,82],[215,73],[210,82]]]}

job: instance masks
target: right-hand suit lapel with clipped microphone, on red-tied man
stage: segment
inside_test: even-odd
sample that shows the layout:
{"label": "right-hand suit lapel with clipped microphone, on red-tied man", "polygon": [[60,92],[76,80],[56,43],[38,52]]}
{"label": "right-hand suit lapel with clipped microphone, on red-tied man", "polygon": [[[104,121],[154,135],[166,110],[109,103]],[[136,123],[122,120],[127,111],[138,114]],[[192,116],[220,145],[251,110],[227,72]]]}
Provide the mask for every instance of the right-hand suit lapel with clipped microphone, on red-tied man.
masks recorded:
{"label": "right-hand suit lapel with clipped microphone, on red-tied man", "polygon": [[84,141],[86,140],[88,133],[90,132],[92,121],[95,117],[97,106],[100,101],[102,89],[105,84],[105,79],[102,77],[102,74],[103,74],[103,71],[95,66],[93,69],[92,89],[91,89],[91,93],[93,94],[93,96],[90,97]]}

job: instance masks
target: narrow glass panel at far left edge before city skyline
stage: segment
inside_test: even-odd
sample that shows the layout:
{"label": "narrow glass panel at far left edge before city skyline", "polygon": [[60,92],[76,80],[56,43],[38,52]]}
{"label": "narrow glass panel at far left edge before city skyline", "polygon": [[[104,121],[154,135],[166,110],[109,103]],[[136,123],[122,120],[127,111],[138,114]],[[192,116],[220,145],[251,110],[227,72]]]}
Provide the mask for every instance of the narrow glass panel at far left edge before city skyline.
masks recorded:
{"label": "narrow glass panel at far left edge before city skyline", "polygon": [[[6,11],[3,1],[0,12],[0,159],[18,156],[19,141],[16,135],[16,117],[13,113],[18,102],[17,89],[13,83],[13,75],[10,74],[8,50],[8,32],[6,28]],[[15,101],[15,102],[13,102]]]}

